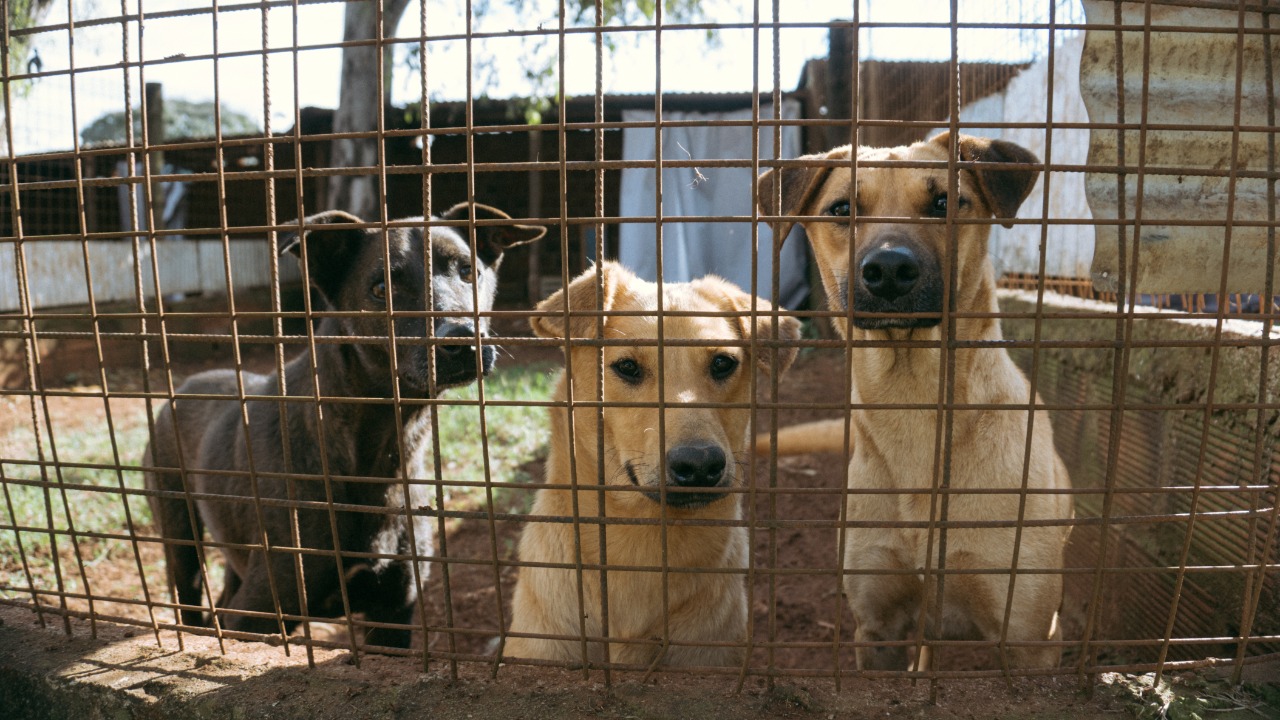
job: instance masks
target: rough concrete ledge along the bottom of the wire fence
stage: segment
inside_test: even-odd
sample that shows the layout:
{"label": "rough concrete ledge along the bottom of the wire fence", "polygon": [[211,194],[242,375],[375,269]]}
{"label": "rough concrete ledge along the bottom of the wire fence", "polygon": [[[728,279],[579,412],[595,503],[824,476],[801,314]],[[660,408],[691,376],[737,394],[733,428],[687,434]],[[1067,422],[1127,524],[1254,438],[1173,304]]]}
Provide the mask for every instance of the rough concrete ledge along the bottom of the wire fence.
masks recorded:
{"label": "rough concrete ledge along the bottom of the wire fence", "polygon": [[[660,675],[641,684],[616,679],[612,689],[594,671],[504,666],[497,680],[485,666],[463,666],[451,680],[447,667],[422,673],[411,659],[365,656],[361,666],[338,651],[285,657],[279,647],[228,641],[227,653],[210,638],[184,637],[179,651],[172,633],[155,637],[132,628],[74,621],[41,628],[35,614],[0,607],[0,708],[6,720],[343,719],[362,717],[1062,717],[1085,719],[1142,710],[1142,692],[1115,675],[1087,697],[1074,676],[1002,680],[948,680],[938,703],[929,703],[927,682],[846,680],[835,692],[827,680],[778,682],[769,689],[749,678],[735,693],[736,678]],[[1268,669],[1270,667],[1270,669]],[[1258,673],[1262,676],[1258,676]],[[1251,679],[1280,679],[1280,662],[1249,667]],[[1270,673],[1270,675],[1267,675]],[[1210,671],[1212,674],[1212,671]],[[1197,687],[1220,680],[1197,678]],[[1119,679],[1119,680],[1117,680]],[[1175,680],[1176,683],[1178,680]],[[1140,683],[1139,683],[1140,684]],[[1207,691],[1206,691],[1207,692]],[[1245,691],[1235,691],[1245,692]],[[1280,717],[1265,696],[1245,694],[1252,706],[1239,717]],[[1280,691],[1275,693],[1280,700]],[[1135,705],[1137,703],[1137,705]],[[1274,710],[1274,712],[1271,712]],[[1266,712],[1271,712],[1267,715]],[[1172,716],[1172,715],[1171,715]],[[1217,717],[1236,717],[1222,714]]]}

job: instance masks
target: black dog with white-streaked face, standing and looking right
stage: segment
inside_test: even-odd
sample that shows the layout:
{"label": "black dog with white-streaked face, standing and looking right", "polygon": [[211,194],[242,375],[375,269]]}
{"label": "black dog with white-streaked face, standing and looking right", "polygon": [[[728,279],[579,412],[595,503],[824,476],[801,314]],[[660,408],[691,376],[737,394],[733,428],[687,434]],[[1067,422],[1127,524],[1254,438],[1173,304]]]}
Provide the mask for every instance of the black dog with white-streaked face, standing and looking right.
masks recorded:
{"label": "black dog with white-streaked face, standing and looking right", "polygon": [[[444,219],[465,219],[471,208],[477,219],[509,219],[493,208],[466,204],[452,208],[444,214]],[[428,352],[433,345],[436,389],[470,383],[475,380],[477,369],[488,373],[493,368],[494,347],[484,345],[477,363],[475,345],[461,342],[462,338],[472,338],[475,343],[475,338],[486,336],[485,318],[481,316],[480,327],[475,327],[474,299],[479,299],[481,313],[489,310],[497,291],[497,272],[503,251],[538,240],[545,228],[477,225],[476,263],[472,265],[465,233],[460,234],[452,228],[433,228],[429,236],[419,227],[393,228],[387,232],[384,243],[380,231],[351,225],[358,222],[342,211],[310,217],[302,237],[287,238],[284,250],[297,255],[300,261],[306,259],[311,286],[329,309],[364,311],[360,315],[325,316],[316,325],[317,336],[356,336],[381,341],[316,342],[314,363],[319,383],[312,379],[312,354],[306,351],[284,366],[283,395],[314,397],[319,384],[323,397],[392,398],[393,384],[398,380],[401,397],[425,398],[430,395]],[[397,316],[398,377],[393,377],[387,301],[388,297],[392,299],[396,311],[425,309],[426,237],[431,242],[431,307],[456,314],[435,318],[434,334],[438,338],[454,338],[454,343],[425,342],[426,318],[422,315]],[[387,259],[390,260],[389,287]],[[282,395],[279,379],[274,374],[243,373],[242,378],[246,395]],[[411,538],[416,541],[417,555],[430,555],[431,551],[428,519],[415,518],[411,528],[407,523],[408,514],[403,511],[404,486],[396,480],[401,469],[402,447],[397,428],[402,425],[397,421],[393,404],[332,400],[321,402],[317,413],[312,402],[284,401],[287,418],[282,418],[282,401],[275,400],[250,401],[242,411],[241,402],[234,400],[238,392],[236,370],[210,370],[188,379],[178,388],[178,393],[215,395],[230,400],[179,398],[165,405],[156,418],[155,445],[147,447],[143,460],[146,466],[173,469],[147,473],[148,488],[183,492],[183,475],[177,468],[184,466],[186,489],[206,496],[192,501],[195,515],[188,512],[186,497],[151,498],[152,511],[164,537],[186,541],[183,544],[165,546],[165,560],[177,588],[178,602],[186,606],[182,611],[183,623],[205,624],[204,614],[192,609],[204,605],[200,557],[192,543],[196,534],[202,534],[204,528],[207,528],[209,534],[220,543],[260,547],[265,536],[273,547],[293,547],[288,509],[271,503],[255,507],[253,501],[255,496],[287,500],[291,492],[297,501],[303,502],[324,503],[332,495],[333,502],[339,505],[401,509],[401,512],[393,514],[343,510],[332,515],[323,509],[302,509],[297,515],[301,547],[320,551],[302,553],[308,615],[332,618],[349,610],[362,612],[374,623],[408,623],[419,593],[410,561],[358,556],[410,553],[415,550]],[[402,407],[403,427],[415,424],[415,415],[421,407]],[[248,418],[247,427],[244,415]],[[413,450],[406,447],[410,454]],[[291,483],[271,475],[276,473],[311,478]],[[413,489],[416,492],[410,503],[413,507],[426,506],[425,491],[420,487]],[[230,497],[221,500],[207,496]],[[337,548],[333,529],[337,529]],[[285,615],[301,614],[293,552],[264,553],[261,550],[242,547],[221,550],[227,574],[216,606],[223,628],[278,633],[280,624],[275,616],[273,594]],[[340,562],[335,560],[334,550],[340,551]],[[420,565],[420,579],[425,579],[425,564]],[[346,603],[339,584],[343,578],[347,585]],[[285,619],[284,630],[291,632],[296,625],[297,621]],[[366,644],[407,647],[410,633],[404,629],[374,628],[365,641]]]}

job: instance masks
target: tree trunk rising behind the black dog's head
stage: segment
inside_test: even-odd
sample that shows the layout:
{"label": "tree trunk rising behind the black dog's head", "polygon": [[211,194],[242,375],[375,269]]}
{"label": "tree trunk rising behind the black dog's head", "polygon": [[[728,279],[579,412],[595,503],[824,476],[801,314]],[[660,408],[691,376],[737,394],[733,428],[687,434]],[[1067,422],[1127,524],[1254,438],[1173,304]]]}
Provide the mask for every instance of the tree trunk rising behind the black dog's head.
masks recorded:
{"label": "tree trunk rising behind the black dog's head", "polygon": [[[383,6],[383,37],[390,37],[404,14],[408,0],[364,0],[347,3],[343,40],[378,37],[378,6]],[[390,97],[392,49],[380,47],[383,73],[378,73],[379,47],[372,45],[346,47],[342,51],[342,78],[338,109],[333,115],[333,132],[367,132],[378,129],[378,110]],[[381,92],[379,90],[381,88]],[[372,220],[380,214],[378,192],[379,138],[338,138],[333,141],[329,165],[333,168],[370,168],[366,174],[329,178],[326,205],[323,210],[347,210]]]}

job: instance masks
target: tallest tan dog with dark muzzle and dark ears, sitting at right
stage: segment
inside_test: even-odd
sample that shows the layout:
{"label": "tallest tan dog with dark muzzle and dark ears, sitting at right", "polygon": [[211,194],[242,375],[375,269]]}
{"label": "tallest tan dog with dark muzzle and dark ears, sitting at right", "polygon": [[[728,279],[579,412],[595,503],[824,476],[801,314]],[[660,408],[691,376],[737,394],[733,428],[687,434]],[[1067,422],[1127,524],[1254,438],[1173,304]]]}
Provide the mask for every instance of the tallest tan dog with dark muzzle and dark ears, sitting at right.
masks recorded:
{"label": "tallest tan dog with dark muzzle and dark ears, sitting at right", "polygon": [[[1061,648],[1034,641],[1061,637],[1059,571],[1069,528],[1059,524],[1019,530],[1016,525],[1019,518],[1070,519],[1070,479],[1053,448],[1048,414],[1037,410],[1032,418],[1018,407],[1025,407],[1032,391],[1001,347],[955,351],[947,521],[970,527],[946,532],[942,566],[947,575],[941,607],[936,575],[924,580],[925,566],[940,566],[940,533],[934,530],[931,539],[927,525],[938,518],[942,501],[934,505],[931,488],[946,457],[940,447],[945,436],[938,433],[945,415],[936,410],[940,398],[946,398],[946,378],[940,378],[947,360],[940,350],[940,324],[948,295],[945,275],[950,272],[955,282],[950,293],[952,311],[963,315],[950,319],[956,340],[1000,341],[996,316],[964,316],[998,313],[995,274],[987,258],[991,224],[980,220],[1012,218],[1039,176],[1039,160],[1028,150],[961,135],[956,137],[960,169],[951,195],[946,167],[951,142],[943,133],[906,147],[859,147],[856,188],[847,164],[769,170],[758,181],[760,211],[824,217],[804,222],[804,227],[831,309],[847,313],[852,300],[852,327],[847,318],[836,319],[841,336],[913,343],[855,346],[850,366],[851,401],[861,407],[851,413],[849,423],[849,487],[882,492],[849,496],[847,518],[854,527],[845,530],[842,548],[845,591],[858,621],[855,639],[887,643],[860,646],[859,667],[913,666],[908,648],[911,643],[888,643],[914,639],[922,621],[925,637],[932,637],[937,614],[943,637],[1004,639],[1007,656],[1002,661],[1020,667],[1056,666]],[[806,159],[847,163],[850,152],[851,147],[845,146]],[[938,165],[861,165],[886,160]],[[855,211],[851,232],[849,217]],[[948,217],[954,222],[946,222]],[[922,218],[933,222],[922,223]],[[786,233],[774,237],[785,238]],[[988,409],[965,409],[975,405]],[[785,428],[778,434],[778,452],[841,452],[844,433],[842,419]],[[929,547],[933,557],[927,557]],[[1018,570],[1012,578],[1010,568]],[[915,659],[914,666],[927,665],[927,655]]]}

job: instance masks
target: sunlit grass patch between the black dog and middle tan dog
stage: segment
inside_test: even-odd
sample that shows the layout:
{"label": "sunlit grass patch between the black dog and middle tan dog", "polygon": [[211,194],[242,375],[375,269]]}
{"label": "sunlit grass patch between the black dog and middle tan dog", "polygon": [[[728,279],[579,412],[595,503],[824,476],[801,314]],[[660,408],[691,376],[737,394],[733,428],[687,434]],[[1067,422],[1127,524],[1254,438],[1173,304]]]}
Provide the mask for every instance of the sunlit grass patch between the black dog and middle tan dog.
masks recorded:
{"label": "sunlit grass patch between the black dog and middle tan dog", "polygon": [[[525,483],[534,478],[521,470],[531,460],[547,457],[550,437],[549,420],[544,406],[500,406],[492,401],[545,402],[550,400],[557,368],[540,363],[503,368],[485,378],[484,419],[488,430],[489,480],[495,483]],[[476,400],[480,389],[470,386],[449,391],[445,400]],[[442,477],[451,482],[485,482],[485,443],[480,434],[480,407],[476,405],[447,405],[439,413]],[[447,487],[445,500],[454,509],[484,506],[485,488]],[[497,488],[498,505],[524,507],[530,493],[512,493]]]}

